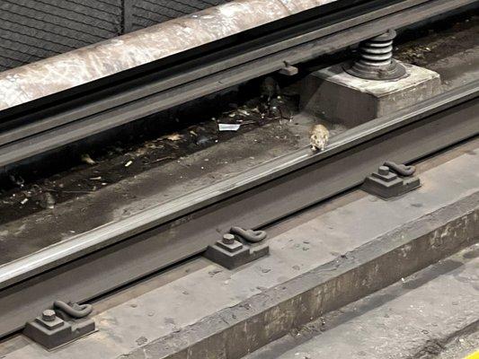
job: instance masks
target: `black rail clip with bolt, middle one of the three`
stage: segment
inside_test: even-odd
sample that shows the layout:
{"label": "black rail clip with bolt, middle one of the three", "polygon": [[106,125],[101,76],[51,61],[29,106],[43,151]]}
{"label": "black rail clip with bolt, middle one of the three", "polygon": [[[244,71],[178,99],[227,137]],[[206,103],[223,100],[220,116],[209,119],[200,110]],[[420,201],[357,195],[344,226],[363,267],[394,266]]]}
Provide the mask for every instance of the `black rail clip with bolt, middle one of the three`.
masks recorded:
{"label": "black rail clip with bolt, middle one of the three", "polygon": [[270,247],[263,242],[266,237],[264,231],[232,227],[222,240],[208,247],[205,257],[227,269],[235,269],[270,253]]}

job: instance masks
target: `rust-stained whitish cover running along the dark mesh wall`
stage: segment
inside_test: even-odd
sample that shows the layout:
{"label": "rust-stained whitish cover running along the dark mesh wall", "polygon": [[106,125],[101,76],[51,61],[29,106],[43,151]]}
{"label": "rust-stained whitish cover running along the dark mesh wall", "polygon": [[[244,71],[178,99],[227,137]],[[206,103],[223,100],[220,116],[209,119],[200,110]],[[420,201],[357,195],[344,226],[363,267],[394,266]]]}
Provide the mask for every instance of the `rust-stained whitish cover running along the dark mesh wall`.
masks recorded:
{"label": "rust-stained whitish cover running along the dark mesh wall", "polygon": [[337,0],[238,0],[0,74],[0,110]]}

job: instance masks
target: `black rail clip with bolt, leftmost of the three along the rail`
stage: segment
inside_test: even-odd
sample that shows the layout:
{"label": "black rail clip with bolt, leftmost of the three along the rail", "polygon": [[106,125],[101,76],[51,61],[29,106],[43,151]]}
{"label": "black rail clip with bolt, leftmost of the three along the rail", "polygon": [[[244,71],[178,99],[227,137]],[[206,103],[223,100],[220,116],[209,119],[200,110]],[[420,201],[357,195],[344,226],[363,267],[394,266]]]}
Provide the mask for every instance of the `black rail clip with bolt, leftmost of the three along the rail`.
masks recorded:
{"label": "black rail clip with bolt, leftmost of the three along the rail", "polygon": [[29,321],[23,334],[40,346],[53,350],[95,331],[94,321],[87,318],[93,311],[90,304],[56,301],[53,308]]}

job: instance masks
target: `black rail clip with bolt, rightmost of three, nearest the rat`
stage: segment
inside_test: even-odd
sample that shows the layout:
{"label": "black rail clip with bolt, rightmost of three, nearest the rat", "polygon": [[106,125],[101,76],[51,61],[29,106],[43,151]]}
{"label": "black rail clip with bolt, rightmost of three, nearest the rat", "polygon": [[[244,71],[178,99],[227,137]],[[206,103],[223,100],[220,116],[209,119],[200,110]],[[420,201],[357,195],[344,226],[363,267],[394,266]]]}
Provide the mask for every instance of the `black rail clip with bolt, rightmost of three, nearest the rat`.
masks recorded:
{"label": "black rail clip with bolt, rightmost of three, nearest the rat", "polygon": [[383,199],[402,196],[421,187],[421,180],[414,176],[415,171],[413,166],[385,162],[364,180],[362,189]]}

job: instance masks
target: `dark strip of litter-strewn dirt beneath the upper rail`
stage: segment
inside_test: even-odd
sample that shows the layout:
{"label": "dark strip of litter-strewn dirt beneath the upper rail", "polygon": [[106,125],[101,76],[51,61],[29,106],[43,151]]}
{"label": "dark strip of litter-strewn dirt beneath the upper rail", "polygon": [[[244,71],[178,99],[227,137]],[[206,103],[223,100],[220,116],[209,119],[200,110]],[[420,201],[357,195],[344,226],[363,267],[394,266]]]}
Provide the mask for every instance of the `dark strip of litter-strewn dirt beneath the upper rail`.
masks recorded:
{"label": "dark strip of litter-strewn dirt beneath the upper rail", "polygon": [[[260,92],[265,91],[260,89]],[[290,122],[297,110],[294,96],[280,96],[276,90],[271,96],[274,99],[262,94],[239,105],[230,103],[229,109],[214,114],[215,116],[205,118],[202,114],[200,118],[205,118],[203,121],[189,127],[175,128],[176,130],[159,136],[140,134],[140,138],[146,138],[143,142],[117,142],[104,148],[97,146],[88,153],[77,153],[76,163],[71,168],[45,179],[27,182],[22,173],[12,171],[5,179],[7,186],[12,188],[0,188],[0,224],[43,209],[53,209],[60,203],[91,194],[121,180],[134,178],[139,173],[168,162],[182,162],[183,158],[192,153],[242,136],[256,128]],[[224,131],[221,128],[224,125],[238,128]],[[273,138],[296,142],[295,136],[286,128],[270,128],[274,131],[271,133]],[[45,165],[48,166],[49,162]]]}

